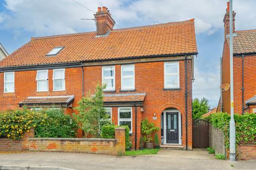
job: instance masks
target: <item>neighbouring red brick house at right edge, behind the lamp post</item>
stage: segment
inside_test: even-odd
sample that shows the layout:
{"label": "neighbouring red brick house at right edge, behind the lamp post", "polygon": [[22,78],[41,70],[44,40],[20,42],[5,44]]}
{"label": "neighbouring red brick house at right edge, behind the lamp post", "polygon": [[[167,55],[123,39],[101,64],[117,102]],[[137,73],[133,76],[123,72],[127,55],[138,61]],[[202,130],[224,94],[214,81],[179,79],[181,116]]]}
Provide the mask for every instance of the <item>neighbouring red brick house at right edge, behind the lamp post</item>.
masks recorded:
{"label": "neighbouring red brick house at right edge, behind the lamp post", "polygon": [[[234,65],[234,113],[256,113],[256,30],[235,30],[235,15],[233,12],[233,65]],[[230,84],[229,65],[229,11],[223,19],[225,41],[222,54],[222,84]],[[230,89],[222,90],[220,111],[230,113]]]}

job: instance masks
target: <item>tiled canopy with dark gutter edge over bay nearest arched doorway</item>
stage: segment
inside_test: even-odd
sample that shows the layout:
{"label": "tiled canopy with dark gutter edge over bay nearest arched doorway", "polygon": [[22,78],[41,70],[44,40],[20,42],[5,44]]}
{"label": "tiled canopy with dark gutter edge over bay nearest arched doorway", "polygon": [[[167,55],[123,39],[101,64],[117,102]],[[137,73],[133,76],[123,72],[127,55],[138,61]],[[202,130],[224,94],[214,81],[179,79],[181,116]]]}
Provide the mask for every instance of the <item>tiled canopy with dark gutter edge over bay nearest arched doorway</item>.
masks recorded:
{"label": "tiled canopy with dark gutter edge over bay nearest arched doorway", "polygon": [[104,106],[142,106],[146,94],[105,94]]}

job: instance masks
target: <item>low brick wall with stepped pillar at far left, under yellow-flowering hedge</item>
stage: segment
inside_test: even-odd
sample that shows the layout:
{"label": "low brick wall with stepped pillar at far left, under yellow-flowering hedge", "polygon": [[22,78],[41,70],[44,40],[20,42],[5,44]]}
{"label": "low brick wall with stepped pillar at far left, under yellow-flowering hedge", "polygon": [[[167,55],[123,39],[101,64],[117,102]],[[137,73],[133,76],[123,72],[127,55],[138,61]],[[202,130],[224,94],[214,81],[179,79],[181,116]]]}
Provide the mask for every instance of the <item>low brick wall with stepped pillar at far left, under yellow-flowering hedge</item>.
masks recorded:
{"label": "low brick wall with stepped pillar at far left, under yellow-flowering hedge", "polygon": [[22,151],[29,149],[29,138],[35,136],[34,129],[25,132],[21,140],[11,140],[9,138],[0,138],[0,151]]}

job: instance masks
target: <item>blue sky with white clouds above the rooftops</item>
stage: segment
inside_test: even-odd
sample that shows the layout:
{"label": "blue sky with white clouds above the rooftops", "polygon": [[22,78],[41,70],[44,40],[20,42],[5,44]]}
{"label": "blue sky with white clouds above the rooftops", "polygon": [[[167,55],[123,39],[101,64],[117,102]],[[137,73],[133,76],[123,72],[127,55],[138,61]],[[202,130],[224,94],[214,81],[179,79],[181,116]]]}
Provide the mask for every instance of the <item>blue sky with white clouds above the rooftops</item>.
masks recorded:
{"label": "blue sky with white clouds above the rooftops", "polygon": [[[213,33],[223,27],[223,15],[225,14],[226,1],[223,0],[76,0],[89,7],[93,11],[98,6],[107,6],[113,18],[121,25],[141,25],[170,21],[181,21],[195,18],[197,33]],[[77,30],[95,30],[93,15],[84,7],[72,0],[5,0],[9,15],[1,15],[6,20],[6,28],[23,29],[35,32],[36,35],[51,35],[59,33],[71,33]],[[129,3],[129,5],[126,5]],[[256,18],[253,0],[237,0],[234,9],[237,12],[236,25],[239,29],[255,28]],[[250,14],[250,15],[249,15]],[[244,24],[246,23],[246,24]]]}

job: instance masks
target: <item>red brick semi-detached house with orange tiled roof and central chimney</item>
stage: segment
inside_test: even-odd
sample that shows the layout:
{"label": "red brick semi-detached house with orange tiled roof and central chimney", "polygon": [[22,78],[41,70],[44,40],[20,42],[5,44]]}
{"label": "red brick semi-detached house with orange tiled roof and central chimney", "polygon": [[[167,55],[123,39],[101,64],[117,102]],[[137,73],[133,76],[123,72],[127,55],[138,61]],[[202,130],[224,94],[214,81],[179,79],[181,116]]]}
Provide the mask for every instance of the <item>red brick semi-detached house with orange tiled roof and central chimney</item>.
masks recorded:
{"label": "red brick semi-detached house with orange tiled roof and central chimney", "polygon": [[0,109],[54,104],[77,113],[77,102],[107,82],[105,106],[130,127],[133,147],[148,118],[163,144],[192,149],[194,19],[113,29],[106,7],[94,16],[97,31],[31,38],[0,62]]}

